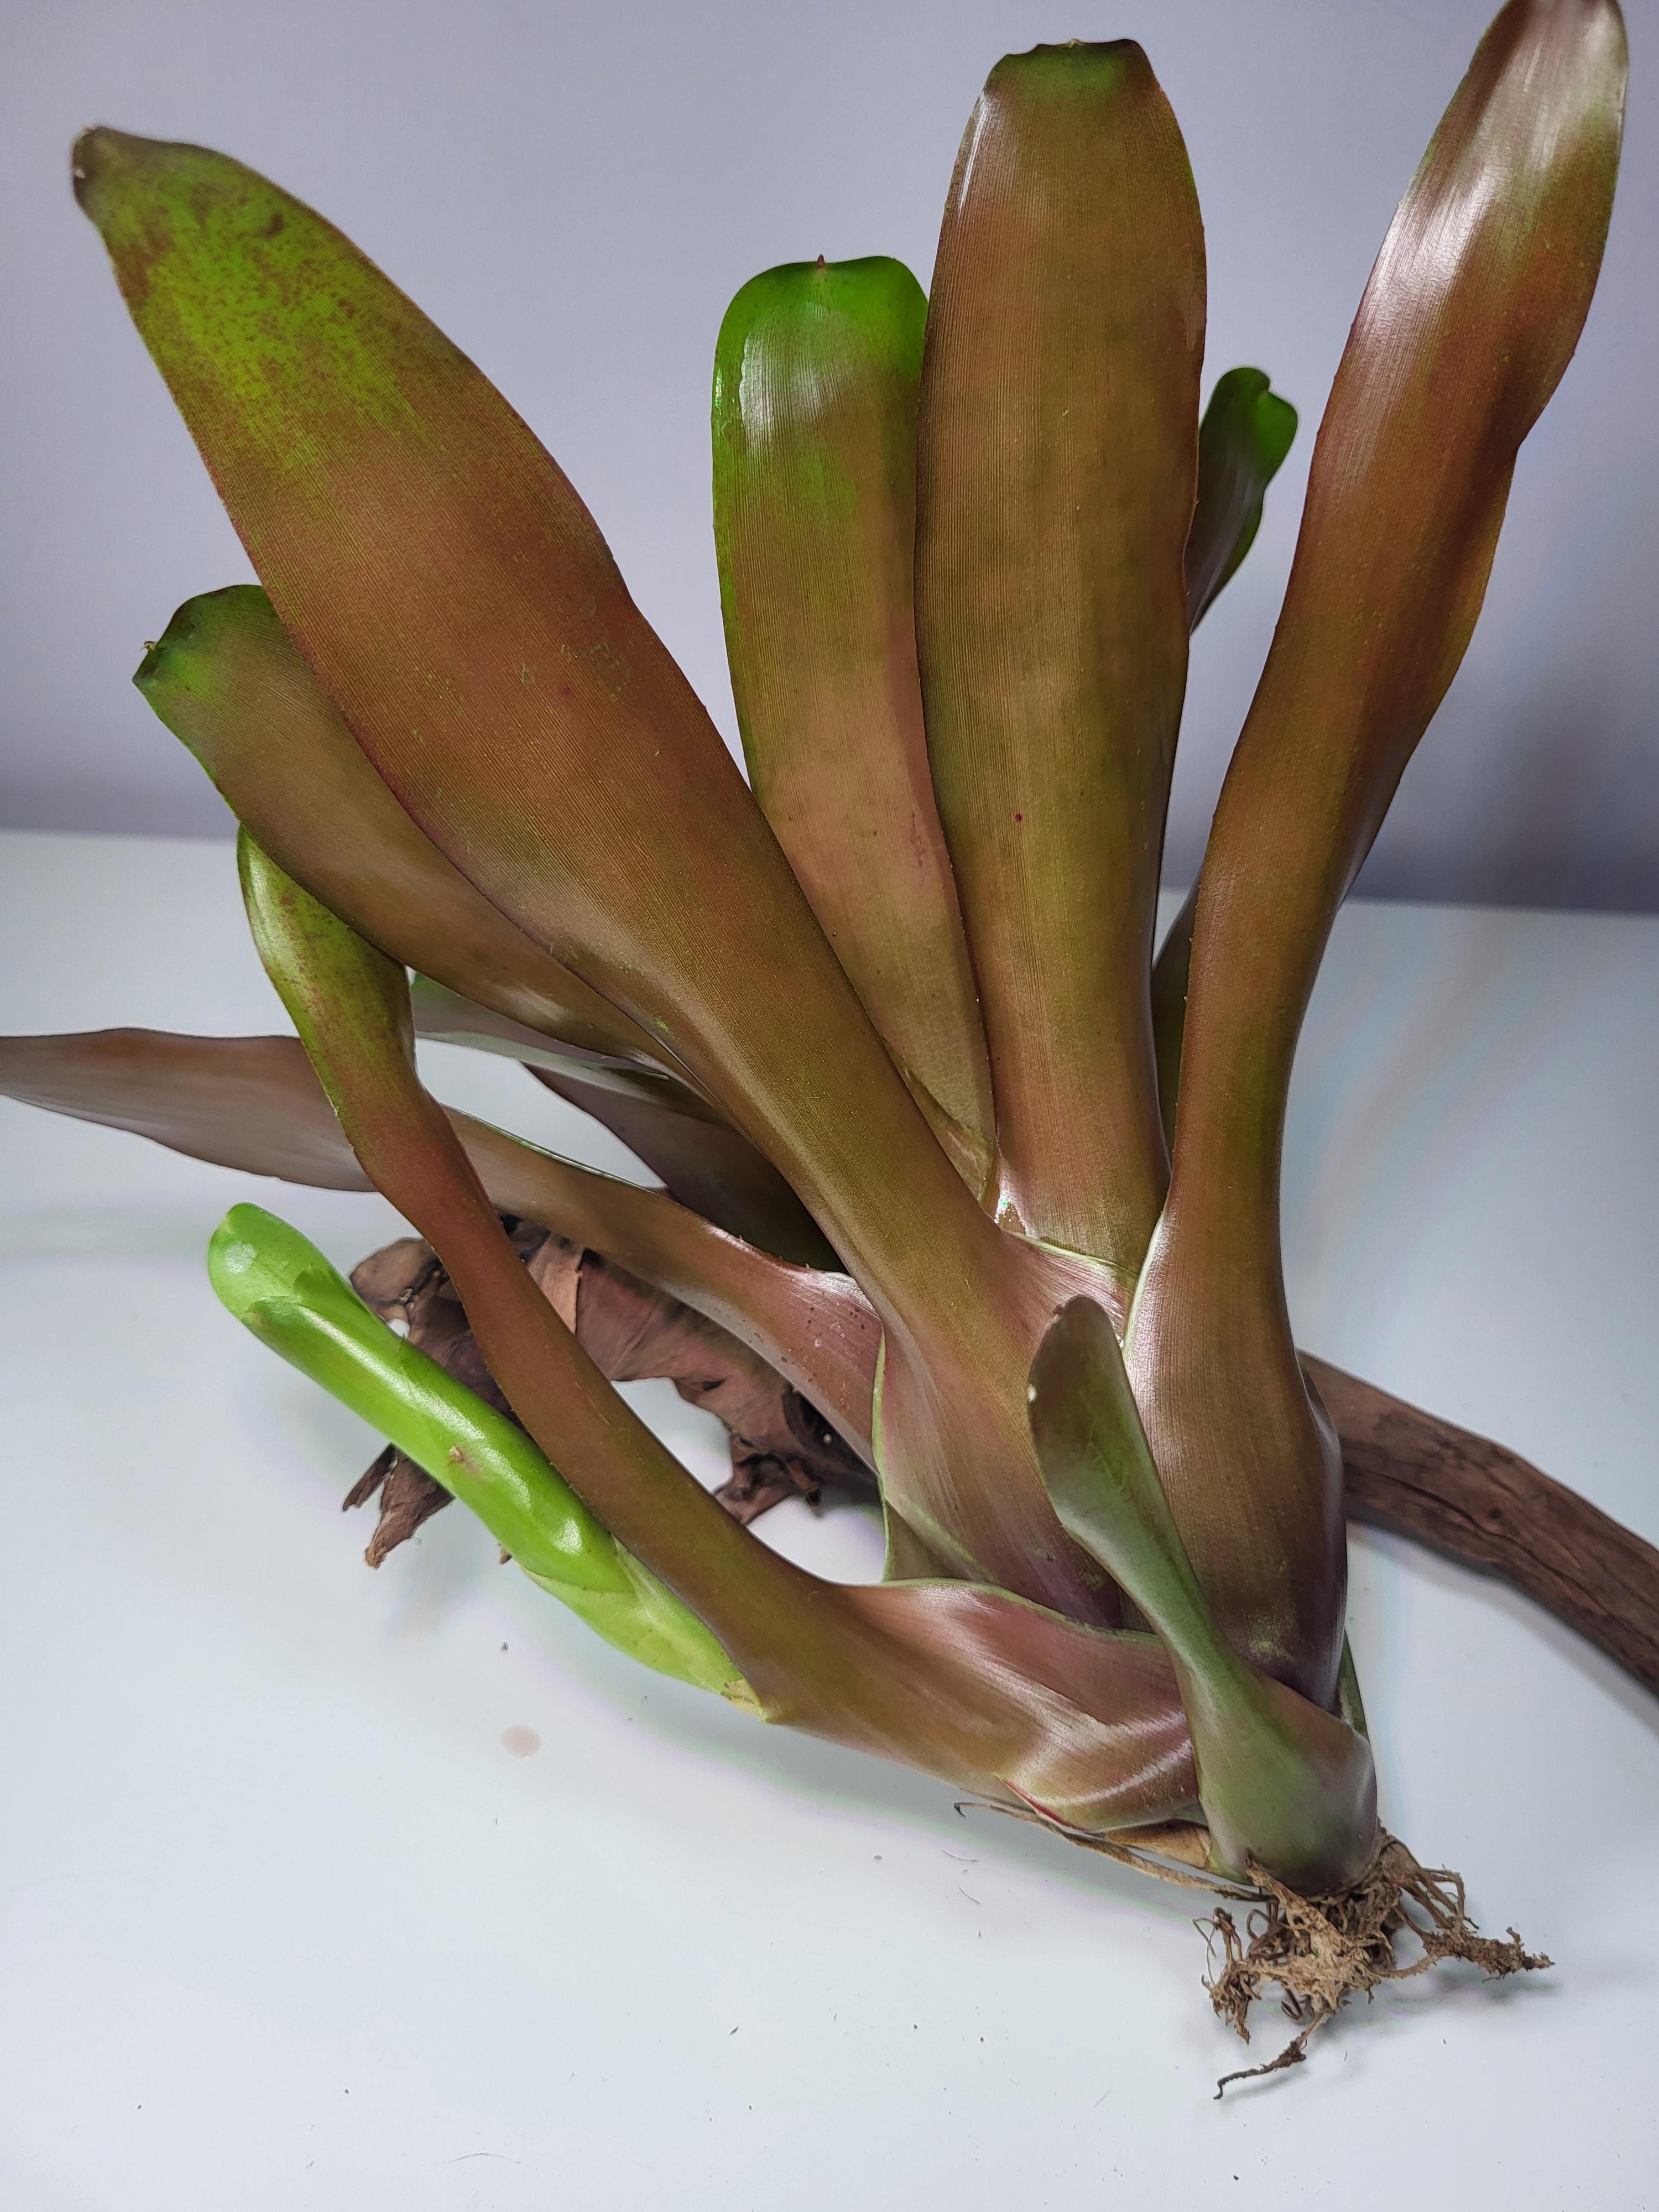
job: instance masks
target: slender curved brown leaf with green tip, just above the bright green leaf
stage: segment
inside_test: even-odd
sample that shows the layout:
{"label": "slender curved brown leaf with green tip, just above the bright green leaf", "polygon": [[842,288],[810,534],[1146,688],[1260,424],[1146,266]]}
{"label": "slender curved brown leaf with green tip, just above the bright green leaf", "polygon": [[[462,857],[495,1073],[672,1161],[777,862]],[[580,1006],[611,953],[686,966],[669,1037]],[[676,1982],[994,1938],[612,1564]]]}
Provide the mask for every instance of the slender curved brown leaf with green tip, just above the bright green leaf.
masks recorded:
{"label": "slender curved brown leaf with green tip, just above the bright green leaf", "polygon": [[[1002,1590],[845,1590],[768,1551],[611,1389],[414,1071],[407,982],[241,836],[254,942],[363,1166],[438,1252],[542,1453],[730,1655],[761,1712],[1091,1827],[1192,1805],[1168,1661]],[[332,1385],[330,1385],[332,1387]]]}

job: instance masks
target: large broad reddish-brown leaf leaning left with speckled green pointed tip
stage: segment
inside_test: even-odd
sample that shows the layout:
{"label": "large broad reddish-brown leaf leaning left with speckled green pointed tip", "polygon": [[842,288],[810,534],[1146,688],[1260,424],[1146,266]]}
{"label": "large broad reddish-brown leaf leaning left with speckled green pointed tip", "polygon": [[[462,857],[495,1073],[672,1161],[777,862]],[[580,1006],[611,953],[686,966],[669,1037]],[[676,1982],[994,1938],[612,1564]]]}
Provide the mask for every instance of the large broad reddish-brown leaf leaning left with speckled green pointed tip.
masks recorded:
{"label": "large broad reddish-brown leaf leaning left with speckled green pointed tip", "polygon": [[411,301],[252,170],[108,131],[75,170],[276,613],[400,805],[661,1040],[878,1307],[900,1511],[956,1571],[1110,1621],[1024,1418],[1055,1270],[933,1139],[566,478]]}

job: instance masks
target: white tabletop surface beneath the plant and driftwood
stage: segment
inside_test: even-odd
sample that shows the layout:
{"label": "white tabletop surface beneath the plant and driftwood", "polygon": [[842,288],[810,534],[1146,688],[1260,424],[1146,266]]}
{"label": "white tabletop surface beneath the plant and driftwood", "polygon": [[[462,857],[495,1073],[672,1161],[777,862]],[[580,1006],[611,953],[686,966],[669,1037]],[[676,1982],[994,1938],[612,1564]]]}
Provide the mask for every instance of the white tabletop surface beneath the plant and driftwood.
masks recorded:
{"label": "white tabletop surface beneath the plant and driftwood", "polygon": [[[9,834],[0,914],[7,1031],[283,1026],[226,845]],[[1287,1252],[1310,1349],[1659,1540],[1655,1097],[1659,920],[1352,907]],[[1659,1701],[1528,1601],[1354,1542],[1385,1818],[1557,1969],[1387,1991],[1214,2104],[1177,1893],[630,1668],[460,1511],[361,1564],[378,1440],[201,1252],[254,1197],[349,1263],[383,1201],[0,1130],[7,2212],[1659,2203]],[[763,1526],[874,1566],[858,1509]]]}

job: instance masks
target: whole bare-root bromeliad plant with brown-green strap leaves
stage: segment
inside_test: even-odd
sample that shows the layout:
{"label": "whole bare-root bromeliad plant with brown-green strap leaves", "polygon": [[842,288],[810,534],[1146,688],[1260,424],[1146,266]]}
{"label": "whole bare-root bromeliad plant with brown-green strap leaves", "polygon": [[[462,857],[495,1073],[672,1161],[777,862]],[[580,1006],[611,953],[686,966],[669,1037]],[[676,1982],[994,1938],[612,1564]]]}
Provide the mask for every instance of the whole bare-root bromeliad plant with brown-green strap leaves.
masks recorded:
{"label": "whole bare-root bromeliad plant with brown-green strap leaves", "polygon": [[[184,606],[137,684],[243,825],[299,1042],[13,1040],[7,1088],[378,1186],[420,1241],[363,1294],[254,1206],[210,1254],[389,1438],[372,1555],[460,1498],[644,1663],[1248,1898],[1212,1995],[1243,2031],[1283,1986],[1276,2064],[1405,1971],[1405,1927],[1537,1964],[1378,1827],[1279,1155],[1332,918],[1590,301],[1621,97],[1613,0],[1486,33],[1360,303],[1157,967],[1188,635],[1296,418],[1234,369],[1199,422],[1203,234],[1137,46],[998,64],[929,296],[872,259],[734,299],[748,783],[555,462],[363,254],[221,155],[75,148],[263,580]],[[445,1113],[418,1033],[518,1057],[664,1188]],[[637,1374],[726,1416],[726,1502],[608,1380]],[[825,1475],[878,1482],[880,1586],[743,1524]]]}

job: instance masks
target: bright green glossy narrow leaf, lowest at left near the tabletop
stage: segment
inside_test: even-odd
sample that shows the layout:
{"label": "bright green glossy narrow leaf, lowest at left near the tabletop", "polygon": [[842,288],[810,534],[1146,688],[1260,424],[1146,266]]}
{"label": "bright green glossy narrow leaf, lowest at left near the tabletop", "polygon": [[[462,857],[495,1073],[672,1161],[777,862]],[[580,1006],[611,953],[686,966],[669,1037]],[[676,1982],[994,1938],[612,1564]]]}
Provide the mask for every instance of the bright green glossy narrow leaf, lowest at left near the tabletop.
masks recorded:
{"label": "bright green glossy narrow leaf, lowest at left near the tabletop", "polygon": [[708,1628],[628,1557],[533,1440],[396,1336],[299,1230],[261,1206],[232,1206],[208,1248],[208,1274],[243,1327],[471,1506],[531,1582],[608,1644],[754,1705]]}

